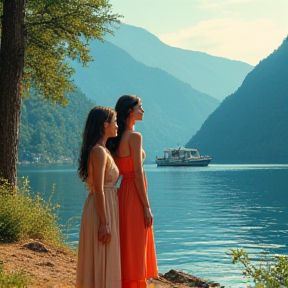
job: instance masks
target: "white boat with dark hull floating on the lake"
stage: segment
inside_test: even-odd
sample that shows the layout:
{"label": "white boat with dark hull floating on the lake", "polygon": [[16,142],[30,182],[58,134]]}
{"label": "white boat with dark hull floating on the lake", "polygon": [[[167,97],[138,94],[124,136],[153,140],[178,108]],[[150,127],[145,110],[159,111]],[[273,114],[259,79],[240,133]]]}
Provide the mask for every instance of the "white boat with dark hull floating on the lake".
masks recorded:
{"label": "white boat with dark hull floating on the lake", "polygon": [[166,148],[164,157],[156,157],[157,166],[208,166],[212,158],[200,156],[197,149]]}

